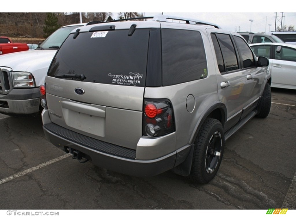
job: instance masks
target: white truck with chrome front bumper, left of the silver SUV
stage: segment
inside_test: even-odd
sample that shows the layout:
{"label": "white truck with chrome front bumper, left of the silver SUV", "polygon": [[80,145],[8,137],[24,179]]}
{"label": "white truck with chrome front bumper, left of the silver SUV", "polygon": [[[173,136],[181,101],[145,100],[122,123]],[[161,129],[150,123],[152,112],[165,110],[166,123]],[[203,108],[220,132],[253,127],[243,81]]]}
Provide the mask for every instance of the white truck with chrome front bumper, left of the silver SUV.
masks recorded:
{"label": "white truck with chrome front bumper, left of the silver SUV", "polygon": [[[39,86],[48,67],[70,32],[84,24],[67,25],[46,38],[37,49],[0,56],[0,113],[13,116],[38,115]],[[28,45],[25,44],[28,50]]]}

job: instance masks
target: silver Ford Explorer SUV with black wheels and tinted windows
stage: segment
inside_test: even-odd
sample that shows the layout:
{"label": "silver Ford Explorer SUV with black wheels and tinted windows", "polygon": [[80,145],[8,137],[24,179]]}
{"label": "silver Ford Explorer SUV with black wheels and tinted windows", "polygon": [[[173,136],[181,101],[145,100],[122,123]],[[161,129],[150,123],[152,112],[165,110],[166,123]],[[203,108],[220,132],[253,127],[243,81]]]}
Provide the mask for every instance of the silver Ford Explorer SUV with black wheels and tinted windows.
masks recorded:
{"label": "silver Ford Explorer SUV with black wheels and tinted windows", "polygon": [[133,176],[173,170],[204,184],[225,140],[268,115],[270,83],[268,59],[217,25],[164,15],[98,23],[71,33],[54,57],[43,128],[81,163]]}

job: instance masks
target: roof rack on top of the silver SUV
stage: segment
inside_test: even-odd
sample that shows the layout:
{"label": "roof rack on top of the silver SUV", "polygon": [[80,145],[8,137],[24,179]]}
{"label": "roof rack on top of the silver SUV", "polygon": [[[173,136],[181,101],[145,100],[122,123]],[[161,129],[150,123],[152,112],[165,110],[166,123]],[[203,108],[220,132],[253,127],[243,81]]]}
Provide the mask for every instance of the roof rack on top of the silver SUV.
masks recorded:
{"label": "roof rack on top of the silver SUV", "polygon": [[192,20],[188,18],[182,18],[182,17],[174,17],[174,16],[168,16],[168,15],[156,15],[154,17],[137,17],[137,18],[126,18],[126,19],[117,19],[112,21],[91,21],[87,23],[86,25],[92,25],[92,24],[98,24],[98,23],[109,23],[109,22],[120,22],[120,21],[132,21],[132,20],[143,20],[143,19],[152,19],[152,21],[159,21],[159,22],[166,22],[168,19],[171,20],[178,20],[178,21],[185,21],[186,24],[193,24],[193,25],[211,25],[215,28],[220,28],[219,25],[216,25],[214,23],[204,22],[200,20]]}

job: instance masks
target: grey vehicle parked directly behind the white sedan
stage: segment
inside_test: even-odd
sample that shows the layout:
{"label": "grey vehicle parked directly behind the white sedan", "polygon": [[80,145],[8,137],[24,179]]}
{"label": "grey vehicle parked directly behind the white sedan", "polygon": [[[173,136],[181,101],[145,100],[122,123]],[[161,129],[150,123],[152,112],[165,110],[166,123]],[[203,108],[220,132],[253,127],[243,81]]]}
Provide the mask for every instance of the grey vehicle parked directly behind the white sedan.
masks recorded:
{"label": "grey vehicle parked directly behind the white sedan", "polygon": [[244,37],[248,44],[265,43],[265,42],[279,42],[284,43],[279,37],[271,33],[252,33],[252,32],[239,32]]}

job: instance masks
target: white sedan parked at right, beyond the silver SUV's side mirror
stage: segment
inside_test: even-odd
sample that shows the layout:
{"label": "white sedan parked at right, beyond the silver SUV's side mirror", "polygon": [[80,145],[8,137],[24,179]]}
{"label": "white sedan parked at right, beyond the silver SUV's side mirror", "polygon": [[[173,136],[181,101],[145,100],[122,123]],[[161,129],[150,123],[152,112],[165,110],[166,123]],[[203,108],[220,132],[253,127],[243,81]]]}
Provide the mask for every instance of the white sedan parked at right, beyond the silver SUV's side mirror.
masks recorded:
{"label": "white sedan parked at right, beyond the silver SUV's side mirror", "polygon": [[296,89],[296,46],[291,44],[251,44],[257,57],[269,59],[271,87]]}

